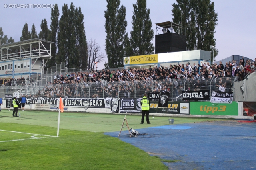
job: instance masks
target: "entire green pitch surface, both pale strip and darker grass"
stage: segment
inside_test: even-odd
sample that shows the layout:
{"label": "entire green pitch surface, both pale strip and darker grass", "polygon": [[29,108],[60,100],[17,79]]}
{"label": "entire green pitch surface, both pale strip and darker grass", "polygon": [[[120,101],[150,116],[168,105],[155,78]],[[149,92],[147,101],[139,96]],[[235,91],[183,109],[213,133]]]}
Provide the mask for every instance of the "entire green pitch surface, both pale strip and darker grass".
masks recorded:
{"label": "entire green pitch surface, both pale strip and darker grass", "polygon": [[[102,133],[120,131],[124,115],[64,112],[59,137],[46,137],[42,135],[57,134],[58,112],[20,113],[21,117],[12,117],[11,111],[0,112],[0,129],[4,130],[0,131],[1,170],[168,169],[159,158]],[[168,117],[154,117],[150,116],[152,124],[141,125],[140,115],[126,116],[133,129],[168,124]],[[174,123],[214,120],[176,117]]]}

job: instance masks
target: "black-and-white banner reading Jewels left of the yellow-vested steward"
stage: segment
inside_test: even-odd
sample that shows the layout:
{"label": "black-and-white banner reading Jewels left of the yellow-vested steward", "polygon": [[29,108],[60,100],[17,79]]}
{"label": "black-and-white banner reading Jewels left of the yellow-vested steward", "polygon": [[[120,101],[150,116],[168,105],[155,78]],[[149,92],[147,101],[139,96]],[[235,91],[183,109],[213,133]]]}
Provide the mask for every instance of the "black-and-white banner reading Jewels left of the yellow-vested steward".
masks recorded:
{"label": "black-and-white banner reading Jewels left of the yellow-vested steward", "polygon": [[141,98],[121,98],[120,113],[141,113]]}

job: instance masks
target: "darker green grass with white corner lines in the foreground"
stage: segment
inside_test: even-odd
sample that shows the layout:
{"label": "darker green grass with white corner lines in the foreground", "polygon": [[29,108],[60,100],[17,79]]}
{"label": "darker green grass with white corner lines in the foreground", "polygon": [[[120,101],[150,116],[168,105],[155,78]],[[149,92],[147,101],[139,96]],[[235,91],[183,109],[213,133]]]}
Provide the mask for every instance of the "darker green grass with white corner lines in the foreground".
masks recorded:
{"label": "darker green grass with white corner lines in the foreground", "polygon": [[[14,123],[0,123],[0,127],[2,130],[56,135],[56,128],[52,127]],[[54,138],[0,143],[0,169],[166,169],[158,158],[117,138],[66,129],[61,129],[61,134]],[[17,139],[20,134],[16,136],[17,133],[9,132],[9,137],[2,137],[1,132],[0,135],[1,141],[5,141],[10,140],[10,136]]]}

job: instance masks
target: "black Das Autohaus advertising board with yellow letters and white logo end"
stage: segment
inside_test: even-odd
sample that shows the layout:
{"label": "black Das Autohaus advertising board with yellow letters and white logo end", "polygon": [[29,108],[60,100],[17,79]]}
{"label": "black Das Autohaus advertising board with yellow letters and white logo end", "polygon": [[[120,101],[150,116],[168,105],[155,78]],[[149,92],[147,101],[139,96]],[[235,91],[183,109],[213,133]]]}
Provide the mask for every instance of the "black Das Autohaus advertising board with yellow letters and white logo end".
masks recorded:
{"label": "black Das Autohaus advertising board with yellow letters and white logo end", "polygon": [[189,102],[167,102],[167,107],[159,107],[158,102],[150,102],[150,113],[164,113],[164,114],[189,114]]}

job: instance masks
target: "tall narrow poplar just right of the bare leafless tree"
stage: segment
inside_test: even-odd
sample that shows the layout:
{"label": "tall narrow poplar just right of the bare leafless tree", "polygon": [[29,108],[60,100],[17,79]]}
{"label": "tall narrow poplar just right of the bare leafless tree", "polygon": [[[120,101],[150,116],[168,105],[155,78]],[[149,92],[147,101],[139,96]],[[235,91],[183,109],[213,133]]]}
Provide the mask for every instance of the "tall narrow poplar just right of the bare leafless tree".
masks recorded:
{"label": "tall narrow poplar just right of the bare leafless tree", "polygon": [[105,68],[117,68],[123,66],[123,57],[125,53],[125,39],[127,21],[126,8],[119,7],[120,0],[107,0],[107,10],[105,11],[105,29],[106,29],[106,54],[108,63]]}

